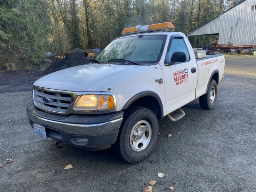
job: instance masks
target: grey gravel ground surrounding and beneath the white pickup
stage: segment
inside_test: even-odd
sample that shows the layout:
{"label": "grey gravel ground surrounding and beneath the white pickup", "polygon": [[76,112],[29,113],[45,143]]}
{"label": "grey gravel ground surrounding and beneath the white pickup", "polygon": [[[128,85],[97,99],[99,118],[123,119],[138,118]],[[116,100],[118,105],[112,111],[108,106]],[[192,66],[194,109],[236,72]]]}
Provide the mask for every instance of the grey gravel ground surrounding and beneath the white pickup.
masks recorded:
{"label": "grey gravel ground surrounding and beneath the white pickup", "polygon": [[[11,73],[0,74],[1,192],[140,192],[150,180],[157,181],[153,192],[171,191],[170,186],[177,192],[256,191],[255,56],[227,56],[215,108],[202,110],[195,100],[182,107],[186,116],[178,122],[164,117],[153,152],[138,164],[121,161],[112,149],[54,146],[54,140],[35,136],[26,106],[42,74],[12,73],[15,81]],[[64,170],[68,164],[73,168]]]}

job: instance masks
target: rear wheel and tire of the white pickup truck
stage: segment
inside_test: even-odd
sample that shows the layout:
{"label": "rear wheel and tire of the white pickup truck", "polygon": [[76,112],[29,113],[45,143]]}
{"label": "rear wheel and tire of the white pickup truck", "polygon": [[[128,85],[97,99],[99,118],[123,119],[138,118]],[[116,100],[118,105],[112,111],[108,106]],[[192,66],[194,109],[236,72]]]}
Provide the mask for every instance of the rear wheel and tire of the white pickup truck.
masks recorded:
{"label": "rear wheel and tire of the white pickup truck", "polygon": [[199,97],[200,107],[203,109],[212,109],[217,100],[217,83],[211,79],[207,93]]}

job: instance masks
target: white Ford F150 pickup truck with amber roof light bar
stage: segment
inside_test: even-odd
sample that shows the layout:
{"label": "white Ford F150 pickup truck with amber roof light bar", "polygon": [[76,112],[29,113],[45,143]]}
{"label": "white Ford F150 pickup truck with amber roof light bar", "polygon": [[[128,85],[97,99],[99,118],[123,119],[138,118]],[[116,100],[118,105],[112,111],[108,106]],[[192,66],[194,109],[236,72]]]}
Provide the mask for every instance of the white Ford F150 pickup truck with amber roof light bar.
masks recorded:
{"label": "white Ford F150 pickup truck with amber roof light bar", "polygon": [[171,28],[126,28],[91,63],[37,80],[27,107],[35,134],[87,150],[115,144],[122,159],[136,163],[153,150],[158,120],[179,120],[196,98],[213,108],[224,56],[195,54],[183,33],[155,32]]}

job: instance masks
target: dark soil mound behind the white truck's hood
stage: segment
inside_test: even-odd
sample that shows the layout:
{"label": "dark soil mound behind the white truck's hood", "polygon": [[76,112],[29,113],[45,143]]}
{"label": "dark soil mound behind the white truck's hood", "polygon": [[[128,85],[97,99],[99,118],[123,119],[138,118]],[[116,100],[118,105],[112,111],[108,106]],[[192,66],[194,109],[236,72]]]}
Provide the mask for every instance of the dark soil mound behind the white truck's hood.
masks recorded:
{"label": "dark soil mound behind the white truck's hood", "polygon": [[79,55],[70,55],[67,58],[64,58],[62,60],[56,61],[55,63],[52,63],[48,68],[46,68],[43,72],[44,75],[53,73],[55,71],[59,71],[61,69],[69,68],[69,67],[74,67],[77,65],[84,65],[89,63],[90,61],[87,60],[83,56]]}

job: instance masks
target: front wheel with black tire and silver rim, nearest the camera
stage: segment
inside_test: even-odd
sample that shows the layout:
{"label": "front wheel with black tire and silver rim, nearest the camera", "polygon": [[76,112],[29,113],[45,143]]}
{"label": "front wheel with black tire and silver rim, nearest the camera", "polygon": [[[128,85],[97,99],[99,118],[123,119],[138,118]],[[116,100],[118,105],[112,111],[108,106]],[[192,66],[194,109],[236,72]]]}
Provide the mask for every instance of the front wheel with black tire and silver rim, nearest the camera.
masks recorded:
{"label": "front wheel with black tire and silver rim, nearest the camera", "polygon": [[139,162],[151,153],[157,136],[158,121],[150,109],[128,108],[116,141],[117,154],[128,163]]}

